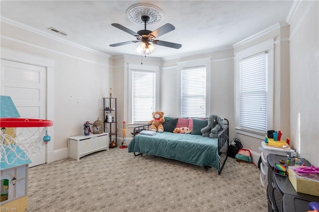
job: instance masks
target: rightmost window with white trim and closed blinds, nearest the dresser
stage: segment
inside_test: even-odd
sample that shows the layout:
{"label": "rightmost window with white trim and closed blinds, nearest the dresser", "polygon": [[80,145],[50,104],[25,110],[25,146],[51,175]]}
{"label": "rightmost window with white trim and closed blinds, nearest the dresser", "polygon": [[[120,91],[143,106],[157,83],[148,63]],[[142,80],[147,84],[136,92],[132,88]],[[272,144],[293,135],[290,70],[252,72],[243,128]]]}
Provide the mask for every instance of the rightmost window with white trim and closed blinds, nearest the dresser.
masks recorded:
{"label": "rightmost window with white trim and closed blinds, nearest the dresser", "polygon": [[272,129],[272,39],[236,53],[235,99],[237,132],[265,135]]}

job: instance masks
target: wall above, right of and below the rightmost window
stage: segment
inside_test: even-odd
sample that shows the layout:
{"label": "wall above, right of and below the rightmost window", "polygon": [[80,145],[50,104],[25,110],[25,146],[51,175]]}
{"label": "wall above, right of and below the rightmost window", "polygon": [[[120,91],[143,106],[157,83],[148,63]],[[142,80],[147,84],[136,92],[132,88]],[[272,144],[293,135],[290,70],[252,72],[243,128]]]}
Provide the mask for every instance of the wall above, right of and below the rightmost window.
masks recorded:
{"label": "wall above, right of and below the rightmost window", "polygon": [[[283,139],[290,137],[290,118],[289,118],[289,26],[286,22],[274,24],[261,33],[252,35],[234,45],[234,52],[239,52],[255,44],[261,43],[268,39],[274,40],[274,97],[273,97],[273,128],[281,130]],[[235,117],[234,117],[235,119]],[[253,153],[258,154],[263,139],[249,135],[236,133],[245,148],[250,149]],[[262,137],[262,136],[261,136]],[[257,163],[257,161],[254,161]]]}

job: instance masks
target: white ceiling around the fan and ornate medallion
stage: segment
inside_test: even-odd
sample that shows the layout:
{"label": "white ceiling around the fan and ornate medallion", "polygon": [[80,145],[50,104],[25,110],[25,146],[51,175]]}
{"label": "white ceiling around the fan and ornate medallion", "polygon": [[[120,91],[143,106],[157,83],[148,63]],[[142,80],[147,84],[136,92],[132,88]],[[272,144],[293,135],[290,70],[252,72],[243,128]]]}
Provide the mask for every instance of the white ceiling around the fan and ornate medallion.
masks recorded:
{"label": "white ceiling around the fan and ornate medallion", "polygon": [[[139,55],[135,50],[138,43],[109,46],[135,40],[111,23],[135,32],[144,29],[144,25],[131,22],[127,16],[128,8],[138,3],[152,4],[163,11],[163,19],[148,26],[148,30],[154,31],[165,23],[175,26],[175,30],[157,39],[182,44],[180,49],[157,46],[150,56],[174,57],[229,48],[285,21],[293,0],[1,0],[0,12],[2,17],[108,55]],[[49,27],[68,35],[49,31]]]}

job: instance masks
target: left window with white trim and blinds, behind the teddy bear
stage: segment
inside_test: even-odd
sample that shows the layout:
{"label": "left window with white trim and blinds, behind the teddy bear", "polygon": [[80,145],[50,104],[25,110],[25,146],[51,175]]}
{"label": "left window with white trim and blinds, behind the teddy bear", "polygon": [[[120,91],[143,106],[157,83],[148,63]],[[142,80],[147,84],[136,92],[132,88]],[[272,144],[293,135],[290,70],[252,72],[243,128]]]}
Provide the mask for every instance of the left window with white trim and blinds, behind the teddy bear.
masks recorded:
{"label": "left window with white trim and blinds, behind the teddy bear", "polygon": [[129,124],[152,120],[158,108],[159,67],[129,64]]}

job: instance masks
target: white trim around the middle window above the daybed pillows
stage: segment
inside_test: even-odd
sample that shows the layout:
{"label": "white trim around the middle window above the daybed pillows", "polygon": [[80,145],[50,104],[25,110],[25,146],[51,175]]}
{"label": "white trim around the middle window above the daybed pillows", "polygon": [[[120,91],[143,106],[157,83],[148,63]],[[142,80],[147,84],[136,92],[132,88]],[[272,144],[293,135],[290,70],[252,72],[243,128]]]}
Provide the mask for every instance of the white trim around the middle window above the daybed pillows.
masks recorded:
{"label": "white trim around the middle window above the daybed pillows", "polygon": [[186,68],[206,67],[205,116],[210,114],[210,58],[177,62],[177,116],[181,116],[181,71]]}

